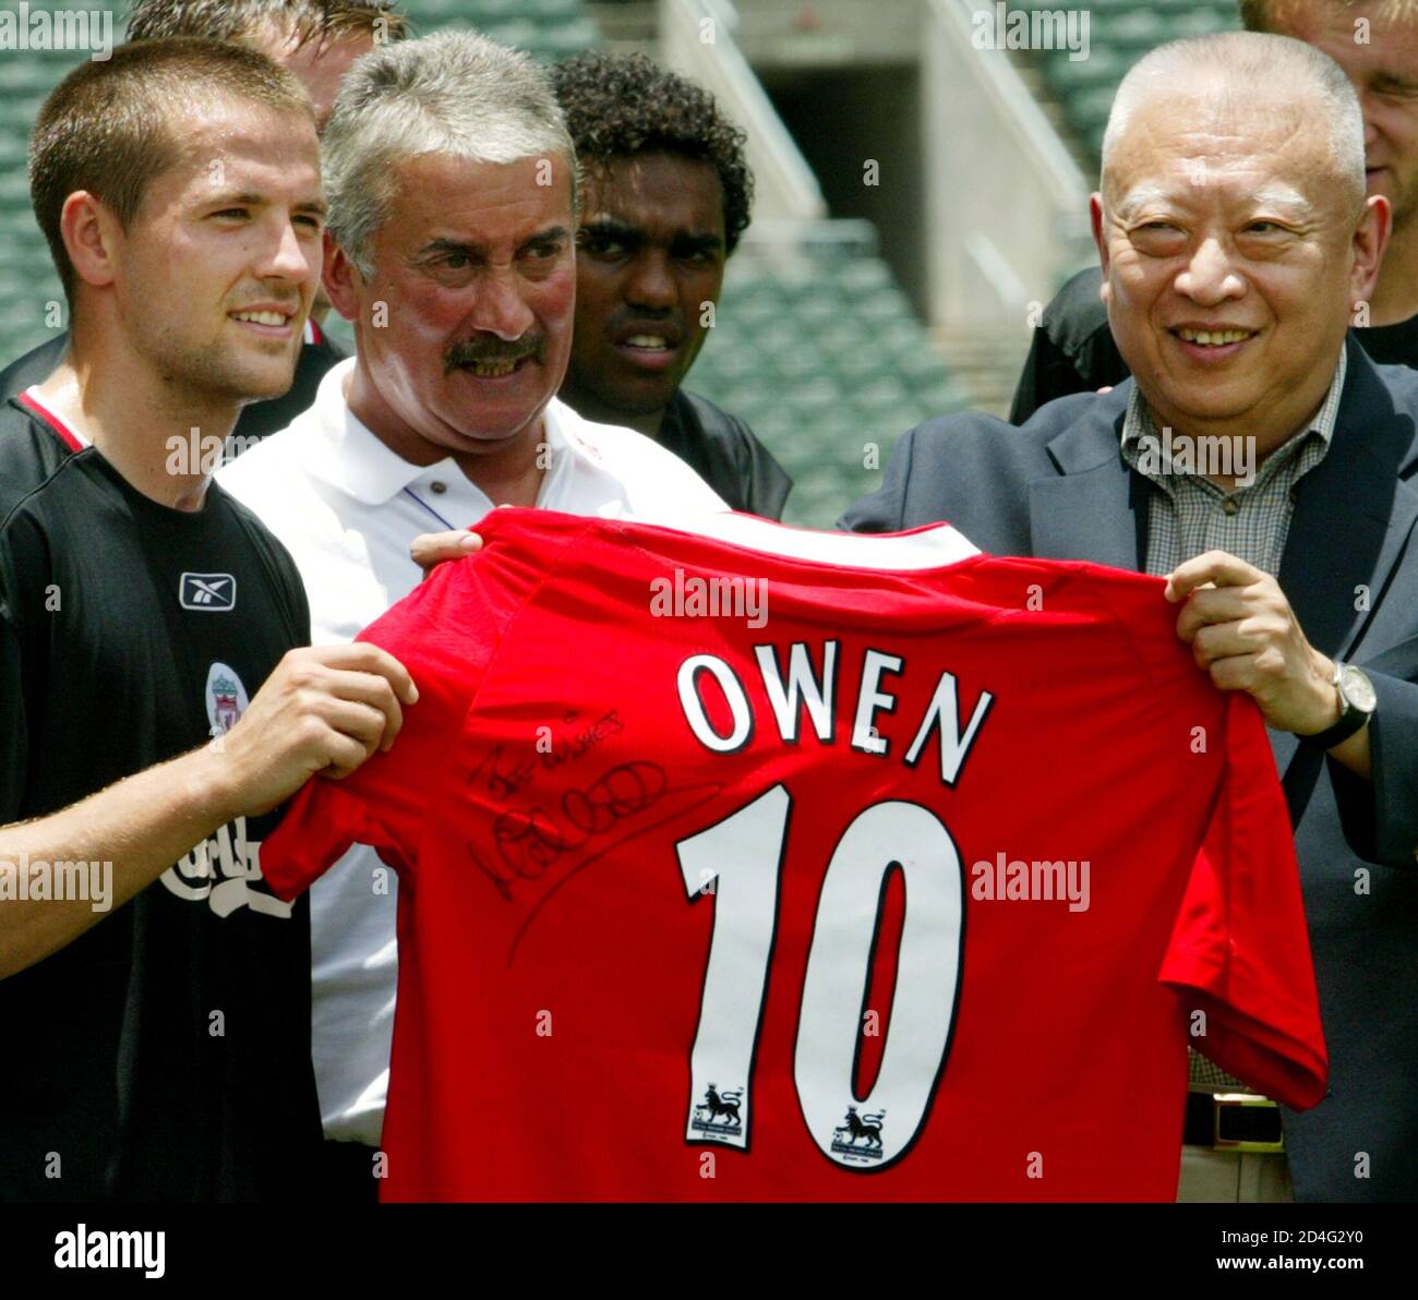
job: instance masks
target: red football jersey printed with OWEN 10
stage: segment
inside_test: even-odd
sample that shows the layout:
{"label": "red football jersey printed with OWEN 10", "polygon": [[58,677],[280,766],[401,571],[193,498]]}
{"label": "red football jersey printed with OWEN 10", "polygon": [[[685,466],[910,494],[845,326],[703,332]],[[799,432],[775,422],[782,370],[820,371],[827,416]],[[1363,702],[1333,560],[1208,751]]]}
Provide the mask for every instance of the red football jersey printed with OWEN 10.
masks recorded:
{"label": "red football jersey printed with OWEN 10", "polygon": [[386,1199],[1173,1199],[1188,1042],[1320,1100],[1265,727],[1161,580],[713,529],[496,510],[363,634],[420,700],[261,865],[400,873]]}

